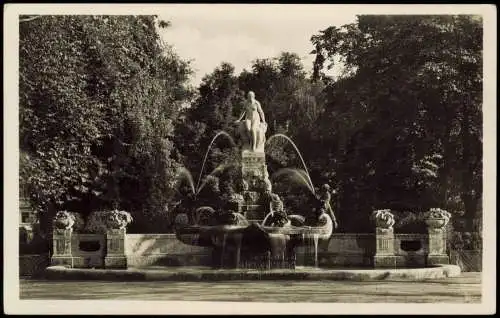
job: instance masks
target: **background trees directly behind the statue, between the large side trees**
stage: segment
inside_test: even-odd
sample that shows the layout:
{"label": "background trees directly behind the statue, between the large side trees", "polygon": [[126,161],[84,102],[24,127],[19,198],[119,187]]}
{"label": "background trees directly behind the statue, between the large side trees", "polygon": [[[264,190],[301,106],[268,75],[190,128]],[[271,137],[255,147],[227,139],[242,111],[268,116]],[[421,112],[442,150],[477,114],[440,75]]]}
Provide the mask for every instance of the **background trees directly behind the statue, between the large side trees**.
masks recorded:
{"label": "background trees directly behind the statue, between the large side trees", "polygon": [[[299,148],[314,149],[310,142],[310,132],[314,130],[314,123],[322,111],[323,85],[312,83],[307,78],[302,62],[296,54],[284,52],[274,58],[257,59],[250,71],[244,70],[238,75],[234,73],[232,65],[222,63],[203,79],[199,96],[193,105],[186,109],[183,121],[179,122],[176,128],[179,160],[196,176],[195,183],[198,183],[205,152],[217,133],[224,131],[238,142],[234,121],[242,113],[245,94],[248,91],[256,93],[264,109],[269,125],[268,138],[274,133],[286,133],[296,140]],[[226,189],[227,185],[233,190],[240,187],[240,184],[236,183],[240,173],[240,154],[235,152],[237,148],[233,147],[229,139],[222,135],[212,144],[203,170],[205,178],[214,169],[220,169],[215,175],[220,180],[221,191],[226,192],[229,191]],[[280,142],[280,139],[274,139],[266,145],[266,149],[271,173],[289,166],[303,169],[293,147]],[[221,165],[228,167],[222,169]],[[288,191],[286,186],[283,189],[284,192]],[[290,198],[298,196],[301,191],[304,192],[303,189],[295,190],[299,193],[291,193]],[[200,193],[200,200],[202,196],[203,193]]]}

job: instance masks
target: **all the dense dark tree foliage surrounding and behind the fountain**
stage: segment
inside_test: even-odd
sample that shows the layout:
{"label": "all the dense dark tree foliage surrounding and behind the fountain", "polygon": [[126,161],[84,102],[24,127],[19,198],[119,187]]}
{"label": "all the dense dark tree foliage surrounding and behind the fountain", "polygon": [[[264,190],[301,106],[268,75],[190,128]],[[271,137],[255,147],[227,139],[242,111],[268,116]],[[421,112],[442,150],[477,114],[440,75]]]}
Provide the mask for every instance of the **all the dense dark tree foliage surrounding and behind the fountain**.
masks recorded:
{"label": "all the dense dark tree foliage surrounding and behind the fountain", "polygon": [[[189,64],[160,43],[160,24],[168,27],[151,16],[21,22],[21,184],[41,215],[119,208],[132,213],[132,231],[158,232],[181,209],[221,206],[217,198],[239,187],[234,121],[252,90],[269,124],[274,189],[289,212],[307,213],[311,193],[300,178],[282,178],[283,168],[305,168],[274,134],[295,142],[316,186],[335,189],[342,231],[372,230],[370,213],[385,208],[404,231],[430,207],[463,215],[475,230],[480,19],[359,16],[312,36],[311,75],[287,52],[240,74],[222,63],[196,96]],[[341,76],[325,75],[338,60]],[[221,131],[233,139],[214,140]]]}

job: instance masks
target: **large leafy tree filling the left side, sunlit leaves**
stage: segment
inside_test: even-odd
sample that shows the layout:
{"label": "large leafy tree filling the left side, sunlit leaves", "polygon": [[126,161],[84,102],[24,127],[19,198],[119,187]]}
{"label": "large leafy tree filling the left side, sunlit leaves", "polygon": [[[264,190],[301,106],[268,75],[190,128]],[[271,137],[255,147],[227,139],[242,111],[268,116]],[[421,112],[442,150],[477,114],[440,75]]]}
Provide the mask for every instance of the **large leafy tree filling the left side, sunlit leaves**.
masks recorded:
{"label": "large leafy tree filling the left side, sunlit leaves", "polygon": [[141,220],[161,210],[191,71],[160,42],[159,23],[168,25],[154,16],[21,22],[21,185],[42,217],[120,206]]}

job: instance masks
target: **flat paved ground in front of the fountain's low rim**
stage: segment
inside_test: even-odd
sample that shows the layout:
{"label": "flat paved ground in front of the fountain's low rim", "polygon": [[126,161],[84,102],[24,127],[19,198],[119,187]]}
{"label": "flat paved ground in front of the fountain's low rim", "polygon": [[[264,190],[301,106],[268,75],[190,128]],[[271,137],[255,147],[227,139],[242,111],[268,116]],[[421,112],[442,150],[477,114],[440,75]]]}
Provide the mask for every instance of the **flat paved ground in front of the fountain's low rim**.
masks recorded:
{"label": "flat paved ground in front of the fountain's low rim", "polygon": [[425,282],[97,282],[21,279],[21,299],[479,303],[481,273]]}

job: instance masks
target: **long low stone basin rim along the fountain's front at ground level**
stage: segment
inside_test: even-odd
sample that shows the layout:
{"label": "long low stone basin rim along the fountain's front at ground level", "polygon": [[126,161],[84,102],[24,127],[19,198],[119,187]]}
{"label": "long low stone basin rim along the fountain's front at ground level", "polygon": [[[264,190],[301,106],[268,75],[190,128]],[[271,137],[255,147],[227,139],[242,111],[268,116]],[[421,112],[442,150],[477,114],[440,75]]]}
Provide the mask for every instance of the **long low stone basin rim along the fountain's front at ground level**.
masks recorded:
{"label": "long low stone basin rim along the fountain's front at ground level", "polygon": [[394,269],[297,268],[276,270],[209,269],[190,267],[84,269],[50,266],[43,277],[50,280],[98,281],[231,281],[231,280],[352,280],[352,281],[423,281],[460,276],[457,265]]}

